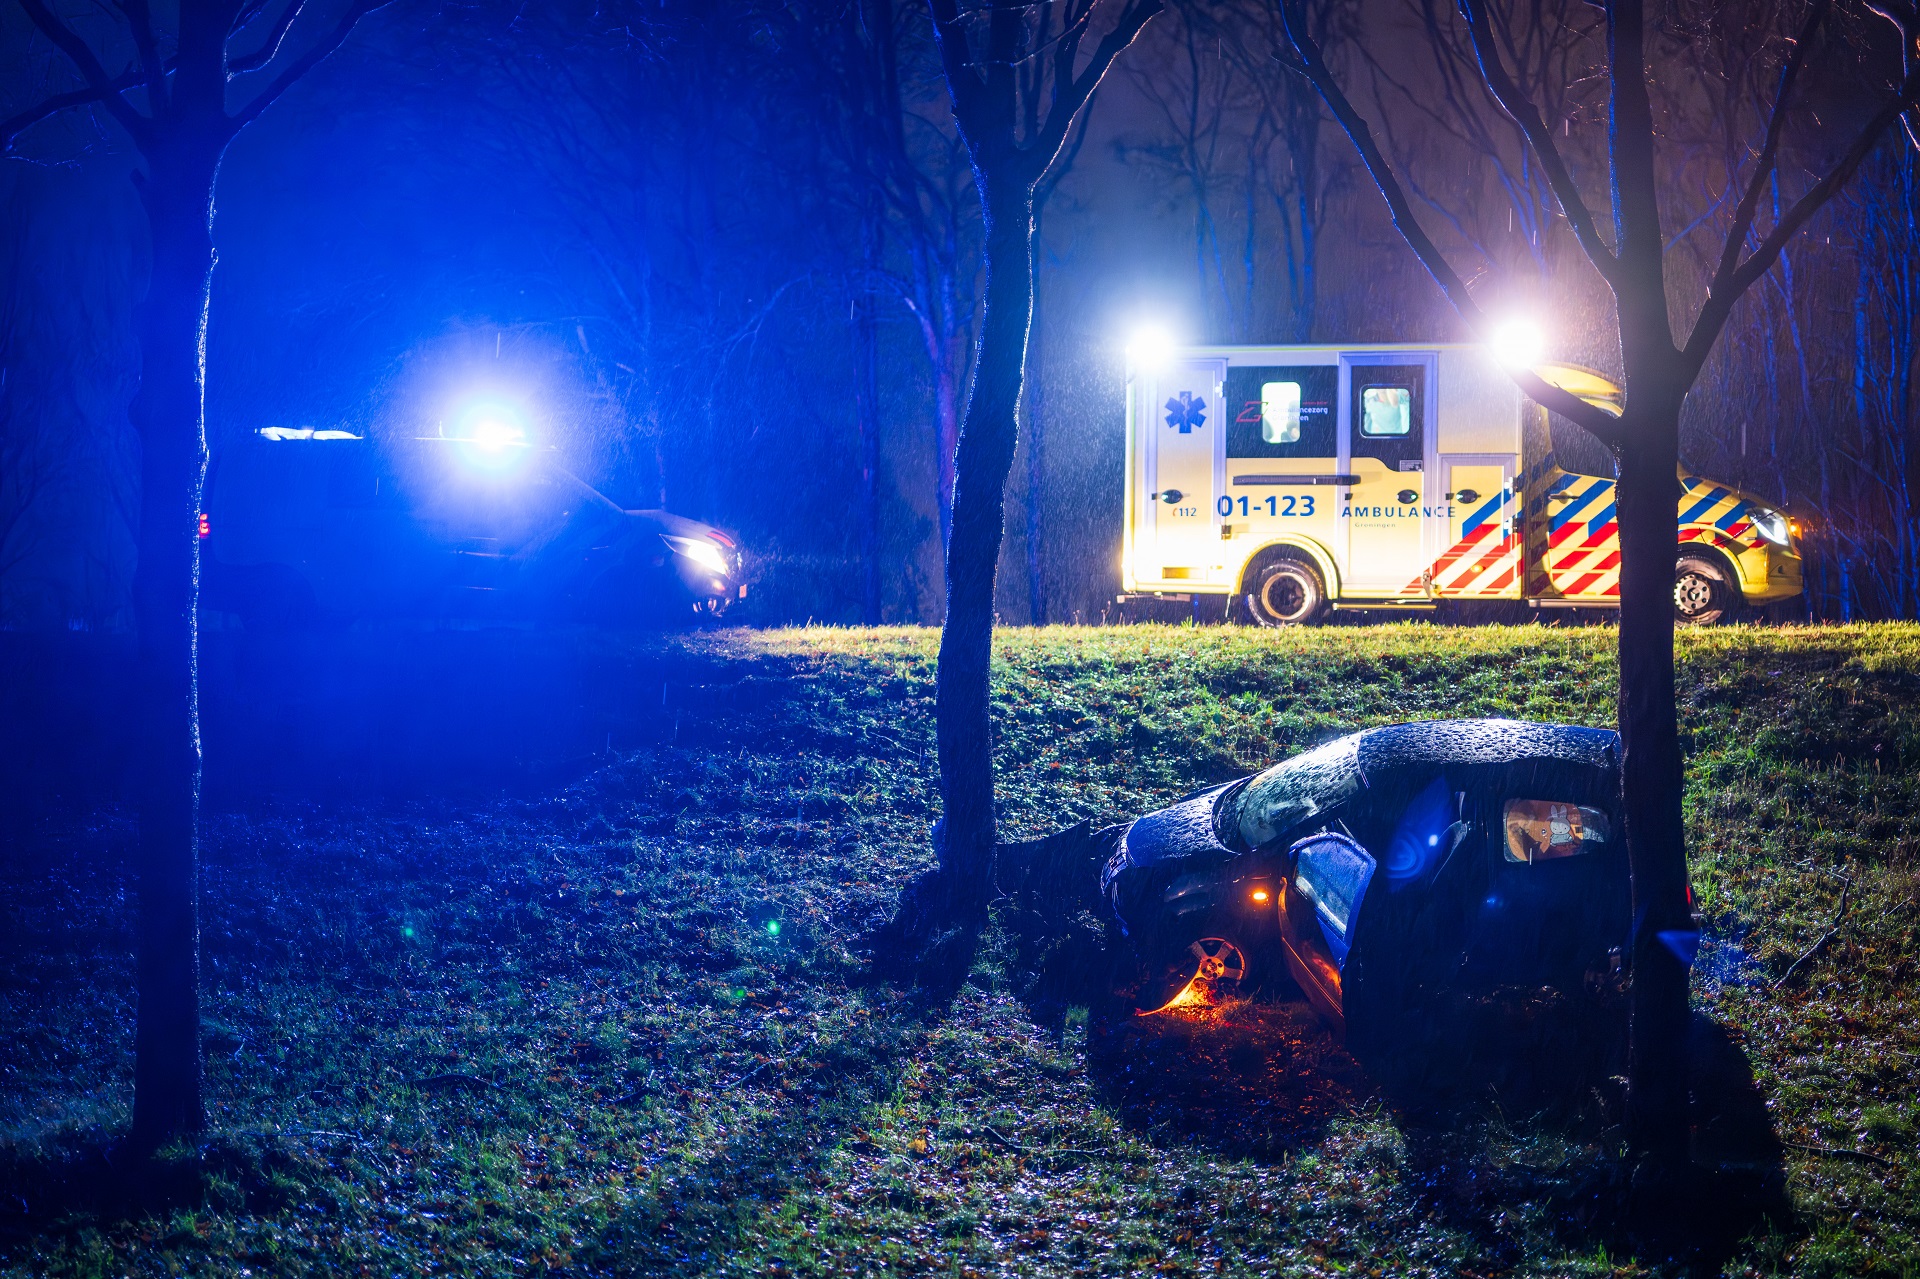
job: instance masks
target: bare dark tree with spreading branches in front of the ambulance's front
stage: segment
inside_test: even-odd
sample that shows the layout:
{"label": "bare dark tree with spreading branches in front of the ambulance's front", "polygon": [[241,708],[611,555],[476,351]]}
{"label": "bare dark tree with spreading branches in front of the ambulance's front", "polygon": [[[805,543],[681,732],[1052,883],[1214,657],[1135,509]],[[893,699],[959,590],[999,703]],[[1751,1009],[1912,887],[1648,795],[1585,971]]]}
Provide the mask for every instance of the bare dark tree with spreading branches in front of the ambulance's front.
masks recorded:
{"label": "bare dark tree with spreading branches in front of the ambulance's front", "polygon": [[[1628,1043],[1628,1141],[1649,1166],[1672,1168],[1688,1152],[1688,970],[1692,918],[1688,908],[1686,826],[1680,799],[1684,766],[1674,707],[1672,584],[1678,557],[1676,503],[1680,497],[1680,409],[1734,303],[1780,257],[1874,150],[1905,111],[1920,104],[1920,12],[1895,2],[1874,8],[1899,33],[1899,48],[1874,50],[1897,65],[1895,92],[1859,123],[1837,159],[1797,200],[1757,230],[1761,198],[1774,181],[1782,133],[1795,83],[1830,15],[1830,0],[1812,0],[1780,60],[1778,84],[1741,196],[1726,215],[1722,248],[1705,298],[1684,340],[1674,338],[1667,236],[1661,229],[1661,181],[1655,167],[1655,113],[1649,96],[1647,21],[1642,0],[1609,0],[1607,44],[1607,169],[1613,196],[1613,236],[1601,232],[1571,173],[1551,121],[1509,71],[1515,38],[1505,10],[1461,0],[1467,40],[1480,83],[1523,134],[1553,200],[1594,269],[1613,290],[1626,403],[1619,419],[1601,413],[1530,369],[1515,382],[1548,409],[1572,419],[1605,442],[1619,467],[1620,526],[1620,737],[1622,808],[1632,866],[1634,939]],[[1371,127],[1354,108],[1340,77],[1327,63],[1309,29],[1302,0],[1281,0],[1294,69],[1319,90],[1380,188],[1394,225],[1440,284],[1448,302],[1476,332],[1486,317],[1467,278],[1421,227],[1396,167]],[[1563,125],[1563,133],[1567,125]],[[1757,244],[1753,238],[1757,238]]]}

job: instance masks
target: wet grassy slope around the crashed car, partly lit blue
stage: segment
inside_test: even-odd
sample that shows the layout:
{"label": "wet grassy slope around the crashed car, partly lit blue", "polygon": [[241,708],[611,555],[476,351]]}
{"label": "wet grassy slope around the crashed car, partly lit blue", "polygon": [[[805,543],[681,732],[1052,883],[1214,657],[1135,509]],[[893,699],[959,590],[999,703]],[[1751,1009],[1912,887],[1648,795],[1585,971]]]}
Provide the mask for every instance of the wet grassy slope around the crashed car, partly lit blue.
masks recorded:
{"label": "wet grassy slope around the crashed car, partly lit blue", "polygon": [[[179,1175],[109,1162],[125,816],[8,849],[0,1273],[1644,1269],[1569,1210],[1605,1122],[1407,1116],[1298,1002],[1041,1018],[1002,931],[950,1006],[870,979],[851,947],[937,810],[929,632],[580,645],[659,693],[570,784],[209,814]],[[1686,634],[1680,678],[1697,1001],[1795,1210],[1728,1267],[1916,1273],[1920,628]],[[1611,724],[1613,634],[1006,632],[995,701],[1037,835],[1367,724]]]}

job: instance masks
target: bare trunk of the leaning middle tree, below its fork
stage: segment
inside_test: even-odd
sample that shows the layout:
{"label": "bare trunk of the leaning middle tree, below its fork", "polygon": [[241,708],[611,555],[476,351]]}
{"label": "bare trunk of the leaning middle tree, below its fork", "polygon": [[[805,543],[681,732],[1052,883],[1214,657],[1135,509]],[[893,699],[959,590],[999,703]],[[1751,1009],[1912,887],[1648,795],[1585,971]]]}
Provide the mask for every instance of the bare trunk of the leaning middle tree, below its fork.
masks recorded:
{"label": "bare trunk of the leaning middle tree, below its fork", "polygon": [[987,292],[973,396],[956,449],[952,534],[947,542],[947,622],[935,686],[945,801],[939,858],[948,901],[985,910],[995,843],[993,805],[993,578],[1006,524],[1006,476],[1020,440],[1020,388],[1033,323],[1033,188],[985,175]]}

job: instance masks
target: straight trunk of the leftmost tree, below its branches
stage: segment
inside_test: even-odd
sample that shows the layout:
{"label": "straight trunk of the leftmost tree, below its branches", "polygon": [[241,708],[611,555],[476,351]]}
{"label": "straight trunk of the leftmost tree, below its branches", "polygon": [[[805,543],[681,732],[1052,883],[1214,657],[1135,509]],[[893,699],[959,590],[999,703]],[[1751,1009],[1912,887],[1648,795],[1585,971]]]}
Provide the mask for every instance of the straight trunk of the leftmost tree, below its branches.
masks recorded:
{"label": "straight trunk of the leftmost tree, below its branches", "polygon": [[134,1146],[198,1133],[200,1097],[200,515],[207,469],[202,369],[213,277],[213,179],[225,138],[177,146],[142,188],[152,278],[134,325],[140,390],[138,985]]}

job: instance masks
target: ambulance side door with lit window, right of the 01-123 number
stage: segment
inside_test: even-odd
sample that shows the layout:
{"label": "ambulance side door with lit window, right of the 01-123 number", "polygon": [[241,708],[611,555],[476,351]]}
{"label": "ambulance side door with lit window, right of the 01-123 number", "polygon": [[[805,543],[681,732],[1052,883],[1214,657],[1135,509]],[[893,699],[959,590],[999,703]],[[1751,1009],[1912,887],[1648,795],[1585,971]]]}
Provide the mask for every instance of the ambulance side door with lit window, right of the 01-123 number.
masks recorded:
{"label": "ambulance side door with lit window, right of the 01-123 number", "polygon": [[[1388,359],[1396,363],[1386,363]],[[1427,447],[1434,434],[1432,359],[1394,353],[1344,355],[1340,405],[1346,467],[1342,593],[1425,597],[1432,563],[1427,511]]]}

